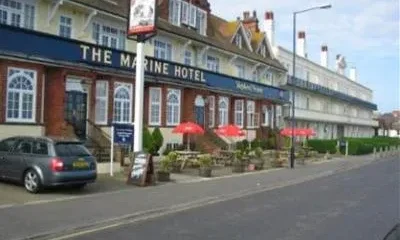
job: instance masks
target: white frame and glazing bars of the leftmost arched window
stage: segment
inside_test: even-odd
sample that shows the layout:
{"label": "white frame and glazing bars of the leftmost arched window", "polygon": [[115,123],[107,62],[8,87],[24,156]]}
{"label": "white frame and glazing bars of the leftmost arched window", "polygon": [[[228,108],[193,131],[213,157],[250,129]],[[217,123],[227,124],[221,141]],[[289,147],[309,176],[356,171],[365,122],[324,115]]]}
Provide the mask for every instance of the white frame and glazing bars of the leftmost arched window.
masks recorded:
{"label": "white frame and glazing bars of the leftmost arched window", "polygon": [[[11,75],[12,71],[16,71]],[[29,76],[28,74],[32,74],[33,77]],[[8,101],[9,101],[9,93],[11,92],[9,90],[9,84],[10,82],[16,78],[16,77],[26,77],[27,79],[31,80],[32,84],[32,117],[29,119],[24,119],[22,118],[22,109],[23,109],[23,94],[24,93],[29,93],[31,91],[26,91],[26,90],[11,90],[12,92],[18,92],[19,93],[19,99],[18,99],[18,117],[17,118],[12,118],[8,116]],[[21,123],[34,123],[36,122],[36,95],[37,95],[37,72],[35,70],[31,69],[24,69],[24,68],[14,68],[14,67],[9,67],[7,71],[7,98],[6,98],[6,122],[21,122]]]}

